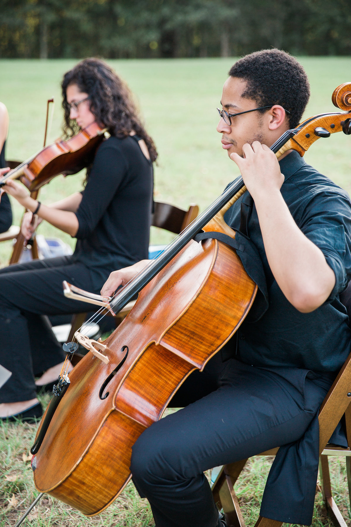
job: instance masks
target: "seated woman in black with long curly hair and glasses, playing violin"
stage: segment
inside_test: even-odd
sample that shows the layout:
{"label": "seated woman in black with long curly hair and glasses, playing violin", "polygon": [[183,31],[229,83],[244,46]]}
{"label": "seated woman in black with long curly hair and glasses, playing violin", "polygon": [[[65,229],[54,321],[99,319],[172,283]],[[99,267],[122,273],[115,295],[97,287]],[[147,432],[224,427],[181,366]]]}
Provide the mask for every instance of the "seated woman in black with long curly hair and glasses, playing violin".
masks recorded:
{"label": "seated woman in black with long curly hair and glasses, playing violin", "polygon": [[[98,293],[115,268],[147,257],[157,152],[145,131],[127,86],[106,63],[87,58],[62,81],[64,132],[73,135],[96,121],[111,136],[97,149],[87,169],[86,186],[45,205],[20,183],[7,180],[5,192],[28,212],[27,239],[38,222],[77,239],[72,256],[34,260],[0,270],[0,364],[12,377],[0,389],[0,417],[33,419],[42,415],[36,391],[53,383],[64,355],[43,315],[86,311],[89,305],[66,299],[62,281]],[[6,170],[1,172],[4,175]],[[43,373],[44,372],[44,373]],[[34,375],[42,374],[35,382]]]}

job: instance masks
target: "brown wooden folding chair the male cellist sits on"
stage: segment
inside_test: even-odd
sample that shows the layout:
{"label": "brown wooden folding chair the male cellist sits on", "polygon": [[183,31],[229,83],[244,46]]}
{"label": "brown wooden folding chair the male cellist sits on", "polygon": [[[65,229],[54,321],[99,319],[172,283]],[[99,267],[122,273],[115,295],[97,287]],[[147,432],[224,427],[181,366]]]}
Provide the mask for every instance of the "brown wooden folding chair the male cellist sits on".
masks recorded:
{"label": "brown wooden folding chair the male cellist sits on", "polygon": [[[330,485],[328,456],[346,456],[347,481],[349,496],[351,496],[351,354],[340,370],[332,387],[327,393],[319,409],[319,471],[322,480],[323,499],[333,523],[339,527],[346,527],[345,520],[340,513],[332,495]],[[338,422],[345,414],[347,448],[327,444]],[[275,455],[278,448],[262,452],[260,456]],[[215,502],[219,509],[223,509],[228,527],[245,527],[243,514],[240,511],[234,484],[242,472],[247,459],[224,465],[212,486]],[[258,517],[255,527],[280,527],[282,522]]]}

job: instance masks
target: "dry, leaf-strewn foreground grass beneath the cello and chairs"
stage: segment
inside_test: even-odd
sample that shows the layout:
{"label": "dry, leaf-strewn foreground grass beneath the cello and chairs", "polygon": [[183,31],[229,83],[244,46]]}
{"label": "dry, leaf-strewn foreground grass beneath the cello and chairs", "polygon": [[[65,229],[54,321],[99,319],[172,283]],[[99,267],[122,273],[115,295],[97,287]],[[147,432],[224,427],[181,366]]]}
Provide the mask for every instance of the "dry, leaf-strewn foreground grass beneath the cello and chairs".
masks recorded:
{"label": "dry, leaf-strewn foreground grass beneath the cello and chairs", "polygon": [[[41,397],[42,403],[48,396]],[[172,410],[171,410],[172,411]],[[25,509],[34,501],[30,462],[23,457],[33,444],[36,425],[0,423],[0,525],[15,525]],[[29,456],[28,456],[29,457]],[[255,525],[260,502],[273,457],[254,457],[246,464],[235,486],[247,527]],[[347,525],[351,525],[348,502],[346,466],[343,458],[329,457],[334,499],[343,512]],[[209,473],[207,474],[209,477]],[[13,505],[10,501],[12,500]],[[23,523],[26,527],[151,527],[154,525],[148,502],[141,500],[133,483],[129,483],[121,496],[102,514],[86,518],[82,513],[45,495]],[[285,524],[284,524],[285,525]],[[313,527],[332,527],[322,495],[316,495]]]}

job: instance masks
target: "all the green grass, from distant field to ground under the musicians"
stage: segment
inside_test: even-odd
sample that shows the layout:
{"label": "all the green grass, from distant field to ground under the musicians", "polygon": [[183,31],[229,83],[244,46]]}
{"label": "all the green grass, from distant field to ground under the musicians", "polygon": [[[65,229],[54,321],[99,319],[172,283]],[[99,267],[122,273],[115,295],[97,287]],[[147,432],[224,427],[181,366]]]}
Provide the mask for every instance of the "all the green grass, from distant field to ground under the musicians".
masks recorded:
{"label": "all the green grass, from distant field to ground under the musicians", "polygon": [[[216,132],[217,114],[226,73],[233,58],[189,60],[109,61],[128,82],[136,95],[145,118],[147,130],[153,136],[159,164],[155,169],[155,199],[180,207],[190,202],[204,209],[238,174],[236,165],[228,160]],[[305,117],[320,112],[333,112],[331,102],[335,87],[349,81],[351,58],[303,57],[312,95]],[[46,100],[54,96],[56,107],[49,141],[59,136],[62,119],[59,82],[63,73],[75,61],[2,60],[0,100],[8,108],[10,133],[7,159],[24,160],[42,147]],[[307,162],[328,175],[346,190],[351,190],[351,138],[342,133],[318,140],[306,153]],[[41,200],[49,203],[81,189],[83,174],[58,177],[41,191]],[[14,203],[15,223],[22,215]],[[74,240],[61,231],[44,224],[40,232],[59,236],[73,246]],[[152,231],[152,242],[172,238],[165,232]],[[11,243],[0,244],[0,265],[5,265]],[[47,397],[43,401],[47,403]],[[28,424],[1,425],[0,430],[0,525],[14,525],[37,494],[28,462],[28,453],[36,426]],[[238,481],[236,490],[243,506],[245,521],[254,525],[265,480],[272,460],[255,458],[250,461]],[[6,476],[8,477],[6,479]],[[16,478],[14,479],[14,476]],[[335,499],[350,522],[347,502],[346,468],[343,460],[332,460],[332,480]],[[10,506],[12,496],[16,506]],[[37,515],[37,517],[36,517]],[[145,500],[139,499],[129,484],[116,502],[104,513],[87,519],[62,503],[46,497],[36,508],[32,519],[24,525],[32,527],[63,526],[147,526],[154,525]],[[317,494],[313,525],[329,525],[320,495]]]}

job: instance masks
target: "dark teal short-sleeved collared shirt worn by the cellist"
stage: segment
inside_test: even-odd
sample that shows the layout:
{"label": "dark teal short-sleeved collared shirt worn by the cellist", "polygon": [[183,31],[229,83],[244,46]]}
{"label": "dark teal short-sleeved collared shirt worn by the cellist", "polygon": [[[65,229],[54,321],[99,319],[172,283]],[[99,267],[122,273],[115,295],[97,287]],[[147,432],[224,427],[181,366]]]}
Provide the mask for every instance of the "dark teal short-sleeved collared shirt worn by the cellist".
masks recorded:
{"label": "dark teal short-sleeved collared shirt worn by the cellist", "polygon": [[[248,236],[262,259],[269,307],[257,321],[238,330],[237,352],[247,364],[337,372],[350,353],[351,331],[338,299],[351,279],[351,202],[346,191],[305,163],[297,152],[279,162],[285,176],[282,196],[297,226],[322,250],[335,273],[328,300],[312,313],[300,313],[285,298],[269,268],[255,206]],[[225,214],[240,227],[240,198]]]}

